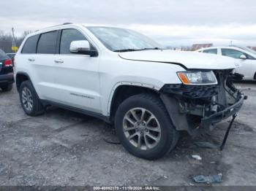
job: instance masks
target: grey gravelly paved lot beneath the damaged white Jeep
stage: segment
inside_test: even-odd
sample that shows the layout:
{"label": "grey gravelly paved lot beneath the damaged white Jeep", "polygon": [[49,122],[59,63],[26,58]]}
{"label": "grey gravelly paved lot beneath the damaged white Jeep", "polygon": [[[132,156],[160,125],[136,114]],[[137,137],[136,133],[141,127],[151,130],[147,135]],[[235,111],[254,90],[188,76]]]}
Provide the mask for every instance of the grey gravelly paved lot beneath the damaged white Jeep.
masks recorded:
{"label": "grey gravelly paved lot beneath the damaged white Jeep", "polygon": [[[192,176],[219,173],[222,185],[256,185],[256,83],[238,87],[249,99],[222,152],[197,147],[184,134],[176,150],[157,161],[108,144],[105,139],[116,136],[105,122],[63,109],[28,117],[15,89],[0,92],[0,185],[189,185]],[[217,143],[226,127],[222,122],[197,140]]]}

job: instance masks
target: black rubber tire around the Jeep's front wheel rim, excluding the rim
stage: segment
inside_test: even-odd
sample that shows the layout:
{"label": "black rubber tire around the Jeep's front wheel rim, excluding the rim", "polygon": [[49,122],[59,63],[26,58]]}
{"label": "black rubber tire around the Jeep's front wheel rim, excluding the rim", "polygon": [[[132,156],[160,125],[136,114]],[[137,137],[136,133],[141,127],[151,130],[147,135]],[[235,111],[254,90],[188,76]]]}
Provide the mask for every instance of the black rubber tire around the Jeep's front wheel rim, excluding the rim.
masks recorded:
{"label": "black rubber tire around the Jeep's front wheel rim, excluding the rim", "polygon": [[[161,128],[159,143],[155,147],[150,149],[143,150],[135,147],[124,135],[124,116],[130,109],[138,107],[147,109],[149,112],[154,114]],[[124,148],[127,149],[128,152],[130,152],[132,155],[146,160],[156,160],[166,155],[176,146],[179,137],[179,133],[174,128],[170,120],[170,116],[169,114],[167,114],[167,111],[165,109],[165,106],[162,104],[162,101],[157,97],[157,95],[151,95],[146,93],[133,95],[132,97],[127,98],[123,103],[121,103],[120,106],[118,106],[115,116],[115,127],[118,139],[124,146]]]}

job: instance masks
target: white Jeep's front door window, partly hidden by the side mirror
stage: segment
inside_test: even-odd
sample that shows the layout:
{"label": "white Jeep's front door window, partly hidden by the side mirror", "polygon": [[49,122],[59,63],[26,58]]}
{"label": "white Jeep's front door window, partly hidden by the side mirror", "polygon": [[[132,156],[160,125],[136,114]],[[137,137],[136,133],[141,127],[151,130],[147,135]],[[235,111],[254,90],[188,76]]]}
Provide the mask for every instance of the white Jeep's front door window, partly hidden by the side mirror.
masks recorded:
{"label": "white Jeep's front door window, partly hidden by the side mirror", "polygon": [[75,29],[64,29],[61,32],[61,44],[59,48],[60,54],[72,54],[69,51],[69,47],[72,41],[86,40],[86,37],[83,36],[79,31]]}

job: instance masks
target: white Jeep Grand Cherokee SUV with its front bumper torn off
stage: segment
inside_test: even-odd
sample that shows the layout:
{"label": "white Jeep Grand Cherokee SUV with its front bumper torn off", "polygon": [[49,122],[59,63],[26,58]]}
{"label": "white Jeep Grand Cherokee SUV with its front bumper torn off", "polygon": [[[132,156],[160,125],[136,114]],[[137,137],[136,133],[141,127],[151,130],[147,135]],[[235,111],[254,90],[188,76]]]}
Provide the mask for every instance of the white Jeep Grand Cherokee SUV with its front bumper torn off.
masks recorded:
{"label": "white Jeep Grand Cherokee SUV with its front bumper torn off", "polygon": [[241,108],[232,58],[163,49],[123,28],[64,24],[36,31],[15,56],[26,114],[50,105],[115,125],[121,144],[148,160],[170,152]]}

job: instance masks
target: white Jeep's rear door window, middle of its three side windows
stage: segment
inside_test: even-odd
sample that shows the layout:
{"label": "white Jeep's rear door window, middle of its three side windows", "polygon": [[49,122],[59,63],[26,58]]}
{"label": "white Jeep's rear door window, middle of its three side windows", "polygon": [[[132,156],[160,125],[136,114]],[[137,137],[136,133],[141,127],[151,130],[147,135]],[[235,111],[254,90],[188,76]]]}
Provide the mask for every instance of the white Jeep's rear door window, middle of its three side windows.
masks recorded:
{"label": "white Jeep's rear door window, middle of its three side windows", "polygon": [[39,54],[55,54],[56,53],[56,42],[57,42],[57,31],[51,31],[45,34],[41,34],[39,42],[37,44],[37,53]]}

